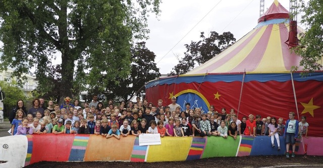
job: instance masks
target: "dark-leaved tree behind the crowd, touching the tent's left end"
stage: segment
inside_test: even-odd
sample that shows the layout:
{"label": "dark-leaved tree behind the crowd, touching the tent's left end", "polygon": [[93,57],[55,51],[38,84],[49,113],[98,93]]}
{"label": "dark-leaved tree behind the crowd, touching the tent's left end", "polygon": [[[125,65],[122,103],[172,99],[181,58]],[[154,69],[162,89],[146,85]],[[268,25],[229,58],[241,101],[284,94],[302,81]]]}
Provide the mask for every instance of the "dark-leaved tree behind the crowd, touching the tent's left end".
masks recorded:
{"label": "dark-leaved tree behind the crowd, touching the tent's left end", "polygon": [[[126,78],[117,77],[116,80],[111,80],[106,85],[99,81],[99,85],[88,89],[90,93],[102,93],[102,96],[99,96],[101,99],[128,101],[145,90],[144,85],[147,81],[160,76],[159,69],[154,63],[156,55],[146,47],[145,42],[137,42],[130,50],[131,73]],[[88,99],[91,97],[88,96]]]}

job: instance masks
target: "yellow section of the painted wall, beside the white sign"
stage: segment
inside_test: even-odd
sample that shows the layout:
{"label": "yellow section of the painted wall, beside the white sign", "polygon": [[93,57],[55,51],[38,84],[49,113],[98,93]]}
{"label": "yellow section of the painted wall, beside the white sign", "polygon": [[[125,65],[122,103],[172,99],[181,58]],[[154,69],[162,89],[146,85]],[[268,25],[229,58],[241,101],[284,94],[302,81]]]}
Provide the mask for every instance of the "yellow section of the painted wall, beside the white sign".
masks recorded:
{"label": "yellow section of the painted wall, beside the white sign", "polygon": [[192,140],[192,137],[161,138],[161,145],[149,146],[147,162],[186,160]]}

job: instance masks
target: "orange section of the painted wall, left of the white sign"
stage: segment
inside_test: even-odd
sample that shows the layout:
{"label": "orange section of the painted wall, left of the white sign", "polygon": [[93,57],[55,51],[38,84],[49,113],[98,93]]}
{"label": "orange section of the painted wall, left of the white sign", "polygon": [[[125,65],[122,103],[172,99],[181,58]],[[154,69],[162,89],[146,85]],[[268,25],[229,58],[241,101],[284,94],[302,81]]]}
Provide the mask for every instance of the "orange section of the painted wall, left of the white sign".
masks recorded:
{"label": "orange section of the painted wall, left of the white sign", "polygon": [[88,141],[84,161],[130,161],[136,136],[129,135],[106,139],[100,135],[91,135]]}

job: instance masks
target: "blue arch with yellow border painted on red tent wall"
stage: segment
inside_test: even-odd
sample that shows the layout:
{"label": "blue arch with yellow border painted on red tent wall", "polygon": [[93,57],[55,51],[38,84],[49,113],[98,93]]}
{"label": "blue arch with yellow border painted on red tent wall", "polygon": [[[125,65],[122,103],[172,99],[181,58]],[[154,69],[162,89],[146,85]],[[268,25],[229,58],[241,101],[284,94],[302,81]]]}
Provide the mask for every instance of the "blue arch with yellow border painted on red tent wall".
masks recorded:
{"label": "blue arch with yellow border painted on red tent wall", "polygon": [[207,111],[209,111],[209,102],[202,93],[196,90],[183,90],[177,93],[175,96],[177,97],[177,103],[181,105],[181,111],[185,111],[185,104],[188,102],[191,104],[191,109],[199,107],[202,108],[201,110],[204,113],[207,113]]}

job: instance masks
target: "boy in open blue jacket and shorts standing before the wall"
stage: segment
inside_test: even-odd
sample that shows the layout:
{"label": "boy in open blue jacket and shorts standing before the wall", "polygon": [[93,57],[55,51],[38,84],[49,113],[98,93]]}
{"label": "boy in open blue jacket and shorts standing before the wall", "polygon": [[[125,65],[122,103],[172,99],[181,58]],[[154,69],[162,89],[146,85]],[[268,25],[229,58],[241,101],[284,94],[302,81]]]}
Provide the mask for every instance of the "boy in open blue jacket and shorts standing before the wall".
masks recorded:
{"label": "boy in open blue jacket and shorts standing before the wall", "polygon": [[286,121],[286,129],[284,131],[284,138],[286,138],[286,158],[289,158],[289,145],[292,144],[293,153],[292,157],[295,157],[295,140],[298,136],[298,121],[294,119],[295,113],[289,112],[289,120]]}

